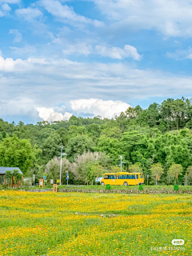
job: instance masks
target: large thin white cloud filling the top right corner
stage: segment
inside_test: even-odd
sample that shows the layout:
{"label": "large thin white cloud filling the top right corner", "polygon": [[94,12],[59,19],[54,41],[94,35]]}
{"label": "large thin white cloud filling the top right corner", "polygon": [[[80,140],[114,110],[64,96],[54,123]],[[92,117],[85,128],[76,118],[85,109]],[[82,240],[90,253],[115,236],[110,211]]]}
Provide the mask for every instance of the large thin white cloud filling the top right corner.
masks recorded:
{"label": "large thin white cloud filling the top right corner", "polygon": [[166,36],[191,36],[191,0],[93,0],[113,21],[110,29],[158,30]]}

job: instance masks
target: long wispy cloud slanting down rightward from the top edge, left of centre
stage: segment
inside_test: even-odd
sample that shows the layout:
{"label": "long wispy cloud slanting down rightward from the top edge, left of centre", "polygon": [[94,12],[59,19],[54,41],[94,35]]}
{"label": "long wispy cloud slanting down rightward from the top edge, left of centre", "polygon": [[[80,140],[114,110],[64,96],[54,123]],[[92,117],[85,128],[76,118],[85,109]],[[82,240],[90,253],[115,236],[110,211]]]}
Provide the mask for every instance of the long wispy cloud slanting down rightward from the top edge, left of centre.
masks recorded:
{"label": "long wispy cloud slanting down rightward from the top edge, left of centre", "polygon": [[102,26],[103,23],[98,20],[92,20],[85,16],[78,15],[74,12],[70,6],[62,5],[59,1],[54,0],[41,0],[42,6],[52,15],[57,18],[63,18],[72,22],[82,22],[87,24],[93,24],[94,26]]}

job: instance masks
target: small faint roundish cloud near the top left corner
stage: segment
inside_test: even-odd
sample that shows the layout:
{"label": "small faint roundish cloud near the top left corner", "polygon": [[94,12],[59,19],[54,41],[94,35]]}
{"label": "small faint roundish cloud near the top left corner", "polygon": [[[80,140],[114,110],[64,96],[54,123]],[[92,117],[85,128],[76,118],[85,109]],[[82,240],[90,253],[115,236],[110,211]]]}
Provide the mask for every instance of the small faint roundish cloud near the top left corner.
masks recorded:
{"label": "small faint roundish cloud near the top left corner", "polygon": [[18,9],[15,10],[15,13],[24,18],[28,22],[34,21],[36,18],[42,17],[42,12],[41,10],[38,10],[37,8],[23,8],[23,9]]}

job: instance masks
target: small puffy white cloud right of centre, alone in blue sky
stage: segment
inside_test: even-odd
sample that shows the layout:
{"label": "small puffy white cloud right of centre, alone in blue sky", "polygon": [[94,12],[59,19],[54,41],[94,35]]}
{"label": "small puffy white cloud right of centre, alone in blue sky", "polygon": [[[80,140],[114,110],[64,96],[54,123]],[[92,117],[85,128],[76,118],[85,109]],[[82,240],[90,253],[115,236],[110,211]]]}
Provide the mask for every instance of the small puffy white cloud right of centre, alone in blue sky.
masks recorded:
{"label": "small puffy white cloud right of centre, alone in blue sky", "polygon": [[95,46],[98,54],[110,58],[133,58],[134,60],[140,61],[142,56],[138,54],[138,50],[134,46],[125,45],[124,49],[119,47],[106,47],[106,46]]}

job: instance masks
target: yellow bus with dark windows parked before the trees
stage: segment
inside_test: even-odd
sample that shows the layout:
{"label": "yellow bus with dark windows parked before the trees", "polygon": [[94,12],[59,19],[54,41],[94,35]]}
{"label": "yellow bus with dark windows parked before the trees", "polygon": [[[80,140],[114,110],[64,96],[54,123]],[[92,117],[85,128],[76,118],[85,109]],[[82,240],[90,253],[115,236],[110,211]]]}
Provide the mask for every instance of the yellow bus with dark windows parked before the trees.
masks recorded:
{"label": "yellow bus with dark windows parked before the trees", "polygon": [[140,185],[144,184],[144,175],[142,173],[116,173],[116,174],[104,174],[101,185]]}

